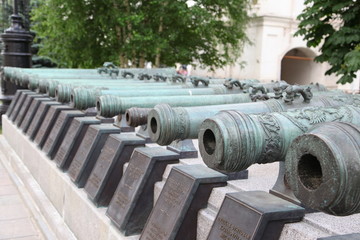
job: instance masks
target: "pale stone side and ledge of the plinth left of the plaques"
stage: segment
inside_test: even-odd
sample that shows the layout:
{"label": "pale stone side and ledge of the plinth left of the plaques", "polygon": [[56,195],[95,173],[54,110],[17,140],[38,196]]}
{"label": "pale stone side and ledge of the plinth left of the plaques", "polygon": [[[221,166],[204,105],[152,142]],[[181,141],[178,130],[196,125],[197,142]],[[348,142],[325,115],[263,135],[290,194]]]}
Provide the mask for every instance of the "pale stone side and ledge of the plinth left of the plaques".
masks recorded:
{"label": "pale stone side and ledge of the plinth left of the plaques", "polygon": [[123,236],[105,216],[106,208],[96,208],[86,193],[4,115],[0,153],[4,156],[1,160],[22,180],[43,223],[57,239],[139,238]]}

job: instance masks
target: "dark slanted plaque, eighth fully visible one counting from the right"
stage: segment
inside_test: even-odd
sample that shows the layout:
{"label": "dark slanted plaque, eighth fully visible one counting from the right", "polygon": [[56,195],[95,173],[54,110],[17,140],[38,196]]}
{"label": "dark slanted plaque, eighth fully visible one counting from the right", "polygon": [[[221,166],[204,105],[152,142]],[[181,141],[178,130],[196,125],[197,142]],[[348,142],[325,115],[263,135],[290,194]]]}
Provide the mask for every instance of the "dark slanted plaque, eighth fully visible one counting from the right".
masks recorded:
{"label": "dark slanted plaque, eighth fully visible one counting from the right", "polygon": [[73,108],[68,105],[55,105],[50,106],[44,121],[42,122],[38,133],[36,134],[34,142],[38,145],[40,149],[43,148],[46,139],[48,138],[51,129],[53,128],[59,114],[64,110],[71,110]]}

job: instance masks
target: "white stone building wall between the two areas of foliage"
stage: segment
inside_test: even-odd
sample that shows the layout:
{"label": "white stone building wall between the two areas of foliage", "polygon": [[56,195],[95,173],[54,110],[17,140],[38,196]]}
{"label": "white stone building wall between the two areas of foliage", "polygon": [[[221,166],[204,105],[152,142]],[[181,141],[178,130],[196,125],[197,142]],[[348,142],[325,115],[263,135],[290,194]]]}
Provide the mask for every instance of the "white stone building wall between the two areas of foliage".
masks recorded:
{"label": "white stone building wall between the two areas of foliage", "polygon": [[[256,15],[251,21],[247,33],[252,45],[247,45],[238,62],[246,62],[244,68],[240,64],[226,66],[215,72],[195,68],[192,75],[231,78],[255,78],[262,82],[281,79],[281,61],[285,54],[292,49],[305,49],[307,56],[313,58],[319,52],[309,49],[301,37],[294,37],[298,21],[296,17],[304,7],[304,0],[254,0],[252,9]],[[290,60],[288,60],[290,61]],[[290,61],[291,62],[291,61]],[[335,76],[325,76],[329,68],[327,64],[316,64],[312,61],[296,60],[293,65],[287,66],[289,74],[293,72],[295,82],[302,79],[301,83],[318,82],[329,88],[337,88]],[[296,68],[299,68],[298,71]],[[299,75],[301,74],[301,75]],[[359,84],[355,84],[357,87]],[[347,88],[347,86],[342,86]]]}

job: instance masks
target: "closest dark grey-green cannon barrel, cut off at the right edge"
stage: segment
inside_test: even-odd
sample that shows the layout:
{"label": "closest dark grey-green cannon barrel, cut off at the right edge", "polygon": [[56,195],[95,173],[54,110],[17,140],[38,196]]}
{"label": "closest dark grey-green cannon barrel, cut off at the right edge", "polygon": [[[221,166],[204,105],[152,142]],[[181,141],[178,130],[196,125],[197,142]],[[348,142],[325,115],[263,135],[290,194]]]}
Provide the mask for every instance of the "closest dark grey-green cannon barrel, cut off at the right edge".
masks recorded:
{"label": "closest dark grey-green cannon barrel, cut off at the right edge", "polygon": [[285,176],[307,207],[336,216],[360,213],[360,127],[319,124],[291,143]]}

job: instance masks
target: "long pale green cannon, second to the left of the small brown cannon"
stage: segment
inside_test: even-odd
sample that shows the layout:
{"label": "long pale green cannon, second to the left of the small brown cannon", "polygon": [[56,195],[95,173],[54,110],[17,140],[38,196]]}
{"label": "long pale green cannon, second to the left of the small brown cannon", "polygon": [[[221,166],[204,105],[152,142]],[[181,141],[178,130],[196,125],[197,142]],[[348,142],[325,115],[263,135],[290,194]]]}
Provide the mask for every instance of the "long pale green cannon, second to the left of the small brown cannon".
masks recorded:
{"label": "long pale green cannon, second to the left of the small brown cannon", "polygon": [[[118,97],[140,97],[140,96],[160,97],[160,96],[192,96],[192,95],[209,96],[209,95],[220,95],[220,94],[229,94],[229,93],[236,94],[240,92],[241,90],[239,89],[229,90],[224,86],[215,86],[209,88],[159,89],[157,91],[149,91],[148,89],[99,90],[99,89],[75,88],[71,92],[70,104],[77,109],[87,109],[90,107],[95,107],[96,98],[105,95],[118,96]],[[144,100],[147,101],[147,98],[144,98]],[[117,114],[118,113],[115,113],[114,115]]]}

